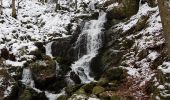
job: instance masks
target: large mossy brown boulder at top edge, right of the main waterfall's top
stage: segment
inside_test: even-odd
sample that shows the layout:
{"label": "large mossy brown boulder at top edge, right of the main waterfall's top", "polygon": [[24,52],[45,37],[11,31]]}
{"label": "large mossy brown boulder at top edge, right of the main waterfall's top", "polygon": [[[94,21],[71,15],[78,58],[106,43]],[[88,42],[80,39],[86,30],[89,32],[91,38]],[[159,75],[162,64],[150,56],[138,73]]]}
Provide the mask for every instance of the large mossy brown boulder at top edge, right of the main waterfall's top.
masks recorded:
{"label": "large mossy brown boulder at top edge, right of the main waterfall's top", "polygon": [[124,19],[136,14],[139,9],[139,0],[121,0],[118,6],[107,11],[107,19]]}

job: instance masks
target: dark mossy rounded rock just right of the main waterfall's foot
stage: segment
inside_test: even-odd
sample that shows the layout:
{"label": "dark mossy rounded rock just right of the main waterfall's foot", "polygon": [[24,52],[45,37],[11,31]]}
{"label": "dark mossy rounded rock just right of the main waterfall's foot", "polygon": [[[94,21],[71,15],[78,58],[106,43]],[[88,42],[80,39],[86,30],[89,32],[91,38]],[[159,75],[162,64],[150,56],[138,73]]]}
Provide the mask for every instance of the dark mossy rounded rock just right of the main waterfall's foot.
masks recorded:
{"label": "dark mossy rounded rock just right of the main waterfall's foot", "polygon": [[123,73],[124,71],[122,68],[110,68],[103,73],[102,78],[108,80],[121,80],[123,78]]}

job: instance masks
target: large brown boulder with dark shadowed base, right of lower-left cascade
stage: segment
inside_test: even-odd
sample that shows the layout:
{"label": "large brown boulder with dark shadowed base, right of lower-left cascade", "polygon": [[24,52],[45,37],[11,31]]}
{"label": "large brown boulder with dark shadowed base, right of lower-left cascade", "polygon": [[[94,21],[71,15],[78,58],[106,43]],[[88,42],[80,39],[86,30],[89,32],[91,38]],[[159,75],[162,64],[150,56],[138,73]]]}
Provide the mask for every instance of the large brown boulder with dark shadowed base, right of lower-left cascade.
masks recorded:
{"label": "large brown boulder with dark shadowed base, right of lower-left cascade", "polygon": [[66,86],[64,76],[56,77],[56,62],[52,59],[37,60],[29,64],[29,67],[35,81],[35,87],[58,93]]}

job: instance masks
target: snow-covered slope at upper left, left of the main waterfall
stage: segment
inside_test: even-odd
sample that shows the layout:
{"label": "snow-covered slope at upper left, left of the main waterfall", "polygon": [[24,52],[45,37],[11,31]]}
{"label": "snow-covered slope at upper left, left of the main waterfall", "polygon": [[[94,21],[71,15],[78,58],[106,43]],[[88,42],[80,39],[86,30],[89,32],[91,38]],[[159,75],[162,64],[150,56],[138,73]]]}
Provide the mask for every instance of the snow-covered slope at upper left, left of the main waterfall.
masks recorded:
{"label": "snow-covered slope at upper left, left of the main waterfall", "polygon": [[17,56],[27,55],[36,49],[34,43],[48,42],[65,37],[72,12],[56,13],[54,4],[42,4],[37,0],[22,0],[17,19],[11,17],[11,0],[3,0],[0,17],[0,49],[7,48]]}

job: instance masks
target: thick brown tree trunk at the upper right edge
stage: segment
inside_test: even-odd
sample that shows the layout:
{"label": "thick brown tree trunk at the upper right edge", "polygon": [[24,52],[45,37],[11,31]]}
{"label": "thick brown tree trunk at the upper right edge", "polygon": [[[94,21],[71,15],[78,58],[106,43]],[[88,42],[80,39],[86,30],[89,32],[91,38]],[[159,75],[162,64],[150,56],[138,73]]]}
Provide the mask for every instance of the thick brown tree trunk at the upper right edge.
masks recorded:
{"label": "thick brown tree trunk at the upper right edge", "polygon": [[158,0],[166,46],[170,58],[170,0]]}

